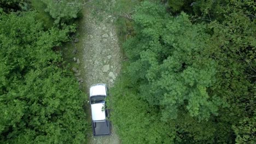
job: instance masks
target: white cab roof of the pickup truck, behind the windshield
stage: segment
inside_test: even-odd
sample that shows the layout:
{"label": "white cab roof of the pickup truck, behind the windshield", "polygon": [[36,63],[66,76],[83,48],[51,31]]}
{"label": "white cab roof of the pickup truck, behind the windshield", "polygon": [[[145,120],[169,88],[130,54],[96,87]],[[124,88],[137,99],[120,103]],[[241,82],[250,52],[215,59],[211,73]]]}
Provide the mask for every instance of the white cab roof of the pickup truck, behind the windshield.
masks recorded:
{"label": "white cab roof of the pickup truck, behind the windshield", "polygon": [[102,111],[104,108],[104,104],[92,104],[91,105],[91,118],[92,121],[101,121],[106,119],[105,110]]}

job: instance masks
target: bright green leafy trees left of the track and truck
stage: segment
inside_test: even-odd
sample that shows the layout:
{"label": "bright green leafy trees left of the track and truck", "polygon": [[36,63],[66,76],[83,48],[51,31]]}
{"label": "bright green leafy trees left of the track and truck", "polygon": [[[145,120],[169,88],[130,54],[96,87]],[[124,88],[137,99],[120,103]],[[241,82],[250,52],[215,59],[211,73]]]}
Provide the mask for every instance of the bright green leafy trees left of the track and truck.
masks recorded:
{"label": "bright green leafy trees left of the track and truck", "polygon": [[0,142],[84,142],[86,98],[53,48],[74,27],[43,31],[35,11],[0,17]]}

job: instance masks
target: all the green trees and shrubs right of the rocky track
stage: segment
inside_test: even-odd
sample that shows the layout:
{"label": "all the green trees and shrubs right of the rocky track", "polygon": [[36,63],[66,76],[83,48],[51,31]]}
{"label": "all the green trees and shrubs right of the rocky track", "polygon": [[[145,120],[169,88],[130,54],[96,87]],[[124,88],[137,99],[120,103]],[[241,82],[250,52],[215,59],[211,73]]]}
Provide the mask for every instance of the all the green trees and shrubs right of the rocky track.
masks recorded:
{"label": "all the green trees and shrubs right of the rocky track", "polygon": [[255,2],[137,2],[111,89],[123,143],[255,143]]}

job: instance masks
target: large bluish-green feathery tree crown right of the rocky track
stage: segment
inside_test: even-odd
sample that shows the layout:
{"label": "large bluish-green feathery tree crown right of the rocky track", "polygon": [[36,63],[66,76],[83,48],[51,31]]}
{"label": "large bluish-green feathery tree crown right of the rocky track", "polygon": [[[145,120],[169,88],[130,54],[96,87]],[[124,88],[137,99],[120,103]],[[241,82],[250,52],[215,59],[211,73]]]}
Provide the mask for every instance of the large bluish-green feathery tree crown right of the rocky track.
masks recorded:
{"label": "large bluish-green feathery tree crown right of the rocky track", "polygon": [[133,17],[136,36],[125,49],[141,97],[162,106],[165,121],[175,119],[182,105],[199,119],[217,115],[222,103],[207,94],[215,80],[215,62],[203,53],[209,39],[205,26],[192,25],[185,14],[170,17],[153,3],[144,3]]}

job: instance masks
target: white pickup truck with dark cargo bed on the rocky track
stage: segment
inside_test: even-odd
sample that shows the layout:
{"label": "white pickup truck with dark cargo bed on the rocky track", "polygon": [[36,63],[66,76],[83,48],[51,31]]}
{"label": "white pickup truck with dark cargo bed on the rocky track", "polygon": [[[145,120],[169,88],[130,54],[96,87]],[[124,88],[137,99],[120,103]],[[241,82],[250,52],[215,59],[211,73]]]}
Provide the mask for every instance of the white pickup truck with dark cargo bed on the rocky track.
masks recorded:
{"label": "white pickup truck with dark cargo bed on the rocky track", "polygon": [[97,83],[90,87],[92,131],[94,136],[110,135],[110,122],[106,118],[109,112],[105,110],[107,95],[108,88],[104,83]]}

